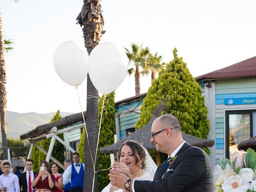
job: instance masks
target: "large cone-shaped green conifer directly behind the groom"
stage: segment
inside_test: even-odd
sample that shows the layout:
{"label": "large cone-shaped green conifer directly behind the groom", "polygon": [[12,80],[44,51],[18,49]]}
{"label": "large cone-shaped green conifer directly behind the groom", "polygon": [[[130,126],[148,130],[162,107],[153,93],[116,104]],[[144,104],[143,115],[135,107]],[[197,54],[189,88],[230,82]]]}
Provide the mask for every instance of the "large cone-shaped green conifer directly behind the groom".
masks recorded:
{"label": "large cone-shaped green conifer directly behind the groom", "polygon": [[[210,130],[204,97],[195,78],[190,74],[186,63],[173,50],[174,59],[159,72],[152,82],[141,107],[140,120],[136,129],[146,125],[157,104],[165,102],[166,114],[172,114],[180,121],[182,131],[200,138],[207,138]],[[209,150],[206,150],[209,152]]]}

